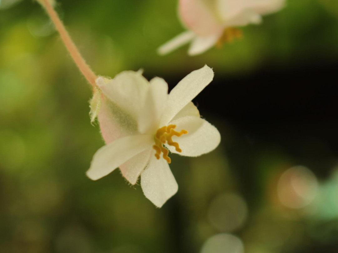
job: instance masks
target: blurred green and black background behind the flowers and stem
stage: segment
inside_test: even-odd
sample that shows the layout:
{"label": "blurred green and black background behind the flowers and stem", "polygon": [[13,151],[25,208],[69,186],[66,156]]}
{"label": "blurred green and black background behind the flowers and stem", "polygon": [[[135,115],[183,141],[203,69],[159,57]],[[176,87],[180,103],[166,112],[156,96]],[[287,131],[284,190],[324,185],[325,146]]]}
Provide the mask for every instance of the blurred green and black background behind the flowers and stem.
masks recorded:
{"label": "blurred green and black background behind the flowers and stem", "polygon": [[338,5],[289,0],[221,49],[156,48],[184,31],[177,1],[59,0],[93,70],[144,69],[169,87],[208,64],[195,103],[222,135],[172,155],[161,209],[118,170],[85,176],[104,142],[91,89],[42,8],[0,0],[0,252],[338,252]]}

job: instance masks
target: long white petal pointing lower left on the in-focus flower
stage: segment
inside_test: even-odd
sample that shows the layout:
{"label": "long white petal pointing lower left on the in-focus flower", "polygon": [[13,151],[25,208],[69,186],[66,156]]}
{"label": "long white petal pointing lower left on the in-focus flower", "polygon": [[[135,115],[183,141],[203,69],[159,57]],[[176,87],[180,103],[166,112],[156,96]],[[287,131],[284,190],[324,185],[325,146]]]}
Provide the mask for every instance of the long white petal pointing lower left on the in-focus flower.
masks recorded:
{"label": "long white petal pointing lower left on the in-focus flower", "polygon": [[153,144],[151,135],[122,137],[101,147],[94,155],[87,176],[100,179]]}

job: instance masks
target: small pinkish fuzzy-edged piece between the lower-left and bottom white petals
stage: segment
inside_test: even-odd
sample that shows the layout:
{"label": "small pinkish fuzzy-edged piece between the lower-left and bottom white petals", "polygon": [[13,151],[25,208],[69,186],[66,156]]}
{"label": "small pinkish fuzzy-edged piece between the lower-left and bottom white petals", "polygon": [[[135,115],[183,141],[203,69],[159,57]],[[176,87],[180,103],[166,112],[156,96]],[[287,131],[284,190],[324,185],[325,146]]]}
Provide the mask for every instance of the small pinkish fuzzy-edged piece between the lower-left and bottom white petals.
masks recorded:
{"label": "small pinkish fuzzy-edged piece between the lower-left and bottom white petals", "polygon": [[141,172],[147,167],[152,153],[153,149],[148,148],[120,165],[122,176],[128,180],[129,183],[133,185],[136,184]]}

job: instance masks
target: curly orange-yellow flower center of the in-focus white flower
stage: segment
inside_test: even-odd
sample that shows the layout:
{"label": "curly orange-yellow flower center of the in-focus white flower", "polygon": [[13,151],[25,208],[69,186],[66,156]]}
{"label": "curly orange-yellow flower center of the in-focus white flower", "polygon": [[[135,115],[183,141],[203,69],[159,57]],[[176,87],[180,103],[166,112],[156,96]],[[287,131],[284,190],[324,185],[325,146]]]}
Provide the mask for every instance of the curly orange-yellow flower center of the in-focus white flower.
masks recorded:
{"label": "curly orange-yellow flower center of the in-focus white flower", "polygon": [[177,142],[172,141],[172,137],[175,136],[181,136],[183,134],[187,134],[188,131],[186,130],[181,130],[180,132],[176,132],[175,129],[176,125],[168,125],[168,126],[163,126],[162,128],[159,128],[156,131],[154,140],[155,140],[155,145],[153,145],[153,149],[155,149],[156,154],[155,157],[157,159],[160,159],[160,155],[163,152],[163,159],[166,160],[168,163],[171,163],[170,157],[168,157],[169,150],[166,149],[163,144],[166,142],[170,146],[174,146],[177,152],[182,152],[182,149],[179,148],[179,145]]}

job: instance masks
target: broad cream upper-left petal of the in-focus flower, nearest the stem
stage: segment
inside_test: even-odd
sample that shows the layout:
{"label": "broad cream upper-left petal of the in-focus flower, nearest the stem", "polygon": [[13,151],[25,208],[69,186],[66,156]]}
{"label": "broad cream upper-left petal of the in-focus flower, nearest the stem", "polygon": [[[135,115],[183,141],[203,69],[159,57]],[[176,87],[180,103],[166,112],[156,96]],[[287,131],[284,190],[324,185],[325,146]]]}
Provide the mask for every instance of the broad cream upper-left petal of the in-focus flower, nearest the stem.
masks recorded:
{"label": "broad cream upper-left petal of the in-focus flower, nearest the stem", "polygon": [[130,116],[138,117],[149,88],[149,82],[142,76],[141,72],[123,71],[108,82],[99,77],[96,79],[96,83],[102,92],[118,107]]}

